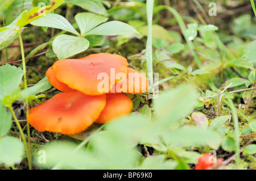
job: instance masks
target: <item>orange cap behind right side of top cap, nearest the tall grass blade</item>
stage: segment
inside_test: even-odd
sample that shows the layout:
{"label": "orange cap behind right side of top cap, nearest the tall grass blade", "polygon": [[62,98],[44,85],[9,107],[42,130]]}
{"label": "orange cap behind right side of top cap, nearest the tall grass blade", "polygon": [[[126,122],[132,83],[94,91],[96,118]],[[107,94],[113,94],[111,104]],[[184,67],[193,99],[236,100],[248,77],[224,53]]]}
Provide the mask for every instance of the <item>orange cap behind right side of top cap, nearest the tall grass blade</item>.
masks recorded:
{"label": "orange cap behind right side of top cap, nearest the tall grass blade", "polygon": [[127,68],[127,76],[121,82],[116,83],[110,92],[126,92],[130,94],[141,94],[148,89],[147,78],[139,71]]}

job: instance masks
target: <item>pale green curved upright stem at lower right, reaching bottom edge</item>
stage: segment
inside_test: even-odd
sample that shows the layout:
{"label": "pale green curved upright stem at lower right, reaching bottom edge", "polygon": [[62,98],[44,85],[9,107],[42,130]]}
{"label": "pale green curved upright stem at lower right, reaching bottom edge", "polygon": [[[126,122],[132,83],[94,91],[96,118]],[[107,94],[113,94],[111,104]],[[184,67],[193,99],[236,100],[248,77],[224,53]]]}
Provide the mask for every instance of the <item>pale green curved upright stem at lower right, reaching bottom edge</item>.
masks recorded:
{"label": "pale green curved upright stem at lower right, reaching bottom edge", "polygon": [[236,141],[236,169],[239,169],[240,163],[240,136],[239,136],[239,124],[237,117],[237,109],[234,107],[234,103],[230,98],[228,99],[229,107],[232,111],[233,123],[234,123],[234,133],[235,133],[235,141]]}

